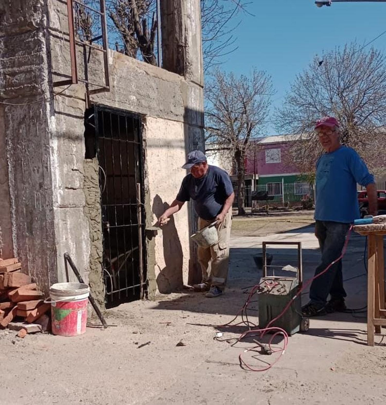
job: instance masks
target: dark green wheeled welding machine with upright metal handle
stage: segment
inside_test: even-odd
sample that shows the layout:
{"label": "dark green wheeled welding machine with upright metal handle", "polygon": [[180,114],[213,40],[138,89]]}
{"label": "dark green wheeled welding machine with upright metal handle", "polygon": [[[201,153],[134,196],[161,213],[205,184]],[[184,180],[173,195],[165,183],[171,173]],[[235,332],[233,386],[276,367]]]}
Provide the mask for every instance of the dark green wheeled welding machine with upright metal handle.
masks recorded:
{"label": "dark green wheeled welding machine with upright metal handle", "polygon": [[[290,265],[282,267],[284,271],[295,272],[295,277],[267,275],[267,245],[297,245],[298,267]],[[259,289],[259,328],[265,328],[271,320],[280,315],[286,305],[292,301],[288,309],[269,326],[282,328],[288,336],[297,332],[307,332],[310,320],[301,315],[301,294],[294,296],[300,290],[303,281],[301,259],[301,242],[263,242],[263,277],[260,279]]]}

